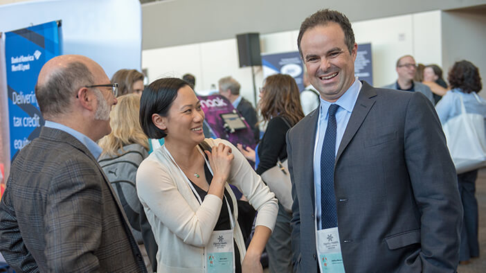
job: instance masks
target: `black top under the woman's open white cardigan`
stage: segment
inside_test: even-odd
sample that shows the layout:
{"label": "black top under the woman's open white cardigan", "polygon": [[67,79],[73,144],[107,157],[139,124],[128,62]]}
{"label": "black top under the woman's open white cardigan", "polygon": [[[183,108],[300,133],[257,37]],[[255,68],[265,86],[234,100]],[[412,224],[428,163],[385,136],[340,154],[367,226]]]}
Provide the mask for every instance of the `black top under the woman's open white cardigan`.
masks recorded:
{"label": "black top under the woman's open white cardigan", "polygon": [[[208,182],[208,184],[211,184],[211,180],[213,180],[213,175],[211,175],[211,172],[209,171],[209,168],[206,165],[206,163],[204,164],[204,174],[206,175],[206,181]],[[196,189],[196,192],[199,195],[199,197],[201,197],[201,200],[204,200],[204,197],[206,197],[208,193],[204,191],[202,188],[199,188],[199,186],[197,186],[194,182],[192,182],[191,179],[189,179],[189,181],[192,184],[192,186],[194,186],[194,188]],[[226,198],[223,198],[223,205],[221,206],[221,211],[219,211],[219,217],[217,218],[216,226],[214,229],[215,231],[231,229],[231,221],[229,218],[228,206],[226,206],[226,200],[228,200],[231,213],[233,213],[235,210],[233,209],[233,202],[231,202],[231,196],[229,195],[228,191],[226,191],[226,188],[224,189],[224,196]],[[240,263],[240,252],[238,251],[235,238],[233,238],[233,246],[235,249],[235,270],[236,270],[235,272],[241,273],[242,265]]]}

